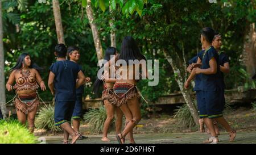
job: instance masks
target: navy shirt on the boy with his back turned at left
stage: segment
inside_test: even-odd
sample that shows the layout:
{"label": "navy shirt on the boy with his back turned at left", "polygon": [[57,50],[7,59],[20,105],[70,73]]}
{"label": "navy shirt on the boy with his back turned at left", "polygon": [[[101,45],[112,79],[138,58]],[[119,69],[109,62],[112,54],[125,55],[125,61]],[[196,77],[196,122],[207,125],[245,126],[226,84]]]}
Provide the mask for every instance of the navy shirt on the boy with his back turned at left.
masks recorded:
{"label": "navy shirt on the boy with his back turned at left", "polygon": [[55,75],[55,101],[76,100],[76,79],[81,68],[69,60],[57,61],[49,68]]}

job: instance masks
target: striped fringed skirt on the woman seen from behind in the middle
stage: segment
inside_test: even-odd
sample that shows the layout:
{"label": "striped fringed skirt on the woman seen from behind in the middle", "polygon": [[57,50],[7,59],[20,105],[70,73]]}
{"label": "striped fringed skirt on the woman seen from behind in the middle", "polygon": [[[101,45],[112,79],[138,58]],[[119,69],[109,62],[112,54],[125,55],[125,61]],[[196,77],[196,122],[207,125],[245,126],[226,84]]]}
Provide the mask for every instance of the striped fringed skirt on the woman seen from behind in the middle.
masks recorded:
{"label": "striped fringed skirt on the woman seen from behind in the middle", "polygon": [[130,83],[115,83],[114,93],[117,106],[122,106],[122,104],[127,103],[127,100],[141,96],[138,93],[137,87]]}

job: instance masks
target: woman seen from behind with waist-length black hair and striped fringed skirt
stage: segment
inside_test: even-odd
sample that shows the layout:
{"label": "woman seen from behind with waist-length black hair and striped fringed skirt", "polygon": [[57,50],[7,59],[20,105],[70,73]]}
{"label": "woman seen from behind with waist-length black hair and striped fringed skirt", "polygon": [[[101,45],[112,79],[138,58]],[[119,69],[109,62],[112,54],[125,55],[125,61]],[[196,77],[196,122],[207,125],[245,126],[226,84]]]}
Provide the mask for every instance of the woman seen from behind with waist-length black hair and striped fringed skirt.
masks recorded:
{"label": "woman seen from behind with waist-length black hair and striped fringed skirt", "polygon": [[[138,77],[139,79],[141,79],[142,76],[147,77],[146,66],[142,66],[141,64],[141,61],[144,61],[146,65],[146,58],[139,51],[133,37],[126,36],[122,41],[120,55],[112,60],[116,60],[117,62],[121,61],[113,89],[117,106],[121,108],[126,118],[125,128],[122,132],[116,135],[118,143],[123,144],[125,143],[126,135],[128,133],[131,133],[132,135],[133,128],[141,120],[139,103],[141,93],[136,84],[138,82]],[[110,60],[110,66],[112,66],[112,60]],[[141,70],[142,72],[140,72]]]}

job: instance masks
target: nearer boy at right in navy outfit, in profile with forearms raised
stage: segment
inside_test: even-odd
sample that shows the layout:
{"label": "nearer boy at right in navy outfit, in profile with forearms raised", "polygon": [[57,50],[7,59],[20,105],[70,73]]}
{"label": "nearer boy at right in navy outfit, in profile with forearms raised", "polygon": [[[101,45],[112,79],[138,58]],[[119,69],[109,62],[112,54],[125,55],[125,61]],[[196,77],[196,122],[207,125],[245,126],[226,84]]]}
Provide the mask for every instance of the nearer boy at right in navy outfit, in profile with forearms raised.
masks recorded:
{"label": "nearer boy at right in navy outfit, in profile with forearms raised", "polygon": [[211,46],[214,37],[212,28],[203,28],[201,31],[201,43],[204,45],[204,52],[198,54],[197,64],[200,62],[201,68],[194,68],[191,75],[185,82],[185,88],[188,87],[189,82],[195,77],[195,74],[201,74],[201,82],[199,93],[197,93],[197,100],[200,100],[199,112],[200,118],[204,118],[204,122],[210,131],[211,137],[207,140],[208,143],[217,143],[218,137],[214,130],[213,121],[211,118],[222,116],[222,106],[218,98],[218,74],[220,72],[218,66],[218,53]]}

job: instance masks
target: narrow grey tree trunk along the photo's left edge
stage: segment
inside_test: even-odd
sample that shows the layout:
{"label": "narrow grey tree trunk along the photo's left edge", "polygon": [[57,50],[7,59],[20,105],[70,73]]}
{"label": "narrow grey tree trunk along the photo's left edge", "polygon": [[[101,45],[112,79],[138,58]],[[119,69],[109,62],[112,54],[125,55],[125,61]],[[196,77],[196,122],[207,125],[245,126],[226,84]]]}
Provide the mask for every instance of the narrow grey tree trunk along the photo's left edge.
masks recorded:
{"label": "narrow grey tree trunk along the photo's left edge", "polygon": [[2,23],[2,1],[0,0],[0,107],[3,119],[6,118],[5,106],[5,53],[3,52],[3,23]]}

